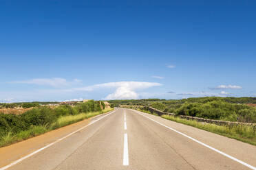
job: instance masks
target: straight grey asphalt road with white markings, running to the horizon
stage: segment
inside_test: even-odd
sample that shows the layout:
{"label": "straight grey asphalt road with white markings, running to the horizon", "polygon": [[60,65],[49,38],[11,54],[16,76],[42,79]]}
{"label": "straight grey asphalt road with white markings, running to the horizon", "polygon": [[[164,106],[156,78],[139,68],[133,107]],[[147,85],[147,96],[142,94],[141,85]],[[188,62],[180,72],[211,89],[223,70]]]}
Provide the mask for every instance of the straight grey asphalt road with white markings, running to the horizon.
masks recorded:
{"label": "straight grey asphalt road with white markings, running to the horizon", "polygon": [[255,167],[253,145],[151,114],[118,108],[0,170]]}

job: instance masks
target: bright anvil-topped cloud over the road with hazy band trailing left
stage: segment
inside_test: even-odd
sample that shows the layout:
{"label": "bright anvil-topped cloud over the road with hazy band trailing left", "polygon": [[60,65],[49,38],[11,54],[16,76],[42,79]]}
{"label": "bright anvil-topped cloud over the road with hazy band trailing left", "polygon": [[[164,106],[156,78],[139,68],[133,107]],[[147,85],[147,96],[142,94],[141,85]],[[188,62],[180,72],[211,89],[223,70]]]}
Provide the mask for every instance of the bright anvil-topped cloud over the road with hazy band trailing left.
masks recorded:
{"label": "bright anvil-topped cloud over the road with hazy band trailing left", "polygon": [[[26,91],[12,91],[12,93],[2,92],[2,95],[0,91],[0,95],[2,97],[5,96],[6,98],[10,95],[16,96],[15,99],[23,101],[42,101],[53,99],[63,101],[63,99],[67,99],[67,96],[81,95],[81,93],[84,91],[88,92],[87,97],[92,97],[92,94],[90,95],[89,92],[93,92],[93,94],[95,92],[96,95],[100,95],[100,93],[105,93],[105,96],[103,97],[98,96],[98,98],[101,99],[138,99],[142,97],[140,95],[141,90],[161,85],[162,84],[159,84],[157,82],[109,82],[104,84],[94,84],[92,86],[82,86],[79,88],[50,88],[38,90],[34,89]],[[56,86],[56,84],[54,84],[54,86]],[[66,101],[74,101],[80,99],[81,98],[67,99]]]}

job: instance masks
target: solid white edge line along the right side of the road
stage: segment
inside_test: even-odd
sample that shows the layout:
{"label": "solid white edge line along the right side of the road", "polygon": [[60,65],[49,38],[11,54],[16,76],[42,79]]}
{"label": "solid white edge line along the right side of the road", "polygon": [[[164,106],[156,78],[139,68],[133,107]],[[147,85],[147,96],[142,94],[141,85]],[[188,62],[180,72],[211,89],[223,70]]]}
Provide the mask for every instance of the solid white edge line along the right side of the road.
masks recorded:
{"label": "solid white edge line along the right side of the road", "polygon": [[[134,111],[138,112],[137,110],[134,110]],[[167,125],[164,125],[164,124],[162,124],[162,123],[160,123],[160,122],[158,122],[158,121],[155,121],[154,119],[151,119],[150,117],[147,117],[147,116],[141,114],[140,112],[138,112],[138,114],[142,115],[143,117],[146,117],[147,119],[150,119],[151,121],[154,121],[154,122],[158,123],[159,125],[162,125],[162,126],[164,126],[164,127],[167,127],[169,130],[173,130],[174,132],[177,132],[178,134],[181,134],[182,136],[185,136],[186,138],[190,138],[192,141],[195,141],[196,143],[199,143],[199,144],[201,144],[201,145],[204,145],[205,147],[208,147],[209,149],[212,149],[213,151],[216,151],[217,153],[222,154],[223,156],[226,156],[226,157],[228,157],[228,158],[231,158],[232,160],[235,160],[236,162],[239,162],[240,164],[242,164],[242,165],[244,165],[244,166],[246,166],[246,167],[248,167],[248,168],[250,168],[250,169],[256,170],[256,167],[253,167],[252,165],[248,165],[246,162],[243,162],[242,160],[239,160],[239,159],[237,159],[237,158],[235,158],[235,157],[233,157],[233,156],[230,156],[230,155],[228,155],[228,154],[225,154],[223,151],[220,151],[220,150],[218,150],[218,149],[215,149],[214,147],[211,147],[211,146],[209,146],[209,145],[206,145],[205,143],[202,143],[202,142],[196,140],[195,138],[192,138],[191,136],[188,136],[188,135],[186,135],[186,134],[183,134],[182,132],[179,132],[178,130],[175,130],[175,129],[173,129],[173,128],[167,126]]]}

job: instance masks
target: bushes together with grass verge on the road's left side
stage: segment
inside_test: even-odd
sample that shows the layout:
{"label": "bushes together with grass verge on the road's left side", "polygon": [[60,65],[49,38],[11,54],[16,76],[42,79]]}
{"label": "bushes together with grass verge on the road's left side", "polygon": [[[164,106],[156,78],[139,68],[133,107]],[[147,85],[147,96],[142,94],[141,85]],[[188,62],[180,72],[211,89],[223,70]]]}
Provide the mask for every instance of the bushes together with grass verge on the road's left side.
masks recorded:
{"label": "bushes together with grass verge on the road's left side", "polygon": [[39,106],[19,115],[0,114],[0,147],[113,110],[102,104],[92,100],[74,107]]}

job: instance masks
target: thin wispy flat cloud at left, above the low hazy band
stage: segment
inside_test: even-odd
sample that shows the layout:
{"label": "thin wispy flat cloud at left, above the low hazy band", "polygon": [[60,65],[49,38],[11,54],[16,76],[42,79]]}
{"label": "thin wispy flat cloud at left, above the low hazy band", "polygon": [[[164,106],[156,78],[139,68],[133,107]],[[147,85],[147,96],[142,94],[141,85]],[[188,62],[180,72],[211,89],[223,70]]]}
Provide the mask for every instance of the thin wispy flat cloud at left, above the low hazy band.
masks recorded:
{"label": "thin wispy flat cloud at left, above the low hazy band", "polygon": [[14,81],[10,82],[11,84],[36,84],[41,86],[53,86],[53,87],[63,87],[63,86],[71,86],[72,84],[80,84],[82,81],[78,79],[74,79],[71,82],[63,78],[38,78],[32,80],[23,80],[23,81]]}

